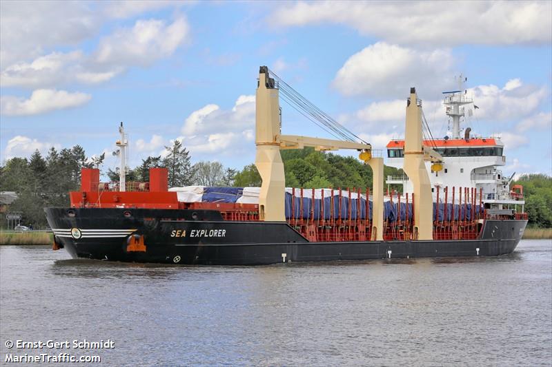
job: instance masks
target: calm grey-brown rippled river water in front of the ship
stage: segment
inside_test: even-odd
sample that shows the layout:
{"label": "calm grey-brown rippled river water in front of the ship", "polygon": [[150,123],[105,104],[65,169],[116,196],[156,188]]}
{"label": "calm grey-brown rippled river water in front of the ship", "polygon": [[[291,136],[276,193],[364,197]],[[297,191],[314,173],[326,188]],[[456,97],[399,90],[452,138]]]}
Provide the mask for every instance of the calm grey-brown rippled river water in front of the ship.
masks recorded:
{"label": "calm grey-brown rippled river water in front of the ship", "polygon": [[[99,356],[92,366],[552,364],[550,240],[500,258],[259,267],[71,260],[32,246],[0,247],[0,259],[2,365],[15,365],[10,353]],[[70,345],[6,348],[18,339]],[[114,348],[74,348],[84,339]]]}

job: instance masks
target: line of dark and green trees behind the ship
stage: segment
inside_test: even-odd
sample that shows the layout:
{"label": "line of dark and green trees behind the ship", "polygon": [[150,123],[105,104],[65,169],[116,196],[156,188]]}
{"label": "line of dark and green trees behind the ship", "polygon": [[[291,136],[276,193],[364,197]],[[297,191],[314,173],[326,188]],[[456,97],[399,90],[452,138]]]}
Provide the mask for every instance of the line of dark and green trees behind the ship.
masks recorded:
{"label": "line of dark and green trees behind the ship", "polygon": [[[241,170],[224,167],[220,162],[201,161],[191,163],[190,152],[181,142],[165,147],[163,156],[148,156],[134,168],[127,168],[126,180],[148,182],[149,169],[166,167],[169,187],[189,185],[259,187],[262,183],[257,168],[252,163]],[[9,212],[21,212],[22,224],[46,227],[43,207],[67,207],[69,191],[80,187],[81,168],[101,168],[105,156],[86,156],[79,145],[57,151],[50,148],[46,157],[34,151],[30,158],[11,158],[0,167],[0,191],[16,191],[17,200]],[[286,174],[286,187],[371,188],[372,170],[357,158],[315,151],[313,148],[282,151]],[[108,180],[118,181],[119,172],[108,169],[102,174]],[[384,166],[387,176],[402,176],[402,169]],[[552,178],[546,175],[522,176],[515,183],[524,186],[529,224],[533,227],[552,227]],[[389,185],[401,191],[400,185]],[[0,221],[6,227],[6,220]]]}

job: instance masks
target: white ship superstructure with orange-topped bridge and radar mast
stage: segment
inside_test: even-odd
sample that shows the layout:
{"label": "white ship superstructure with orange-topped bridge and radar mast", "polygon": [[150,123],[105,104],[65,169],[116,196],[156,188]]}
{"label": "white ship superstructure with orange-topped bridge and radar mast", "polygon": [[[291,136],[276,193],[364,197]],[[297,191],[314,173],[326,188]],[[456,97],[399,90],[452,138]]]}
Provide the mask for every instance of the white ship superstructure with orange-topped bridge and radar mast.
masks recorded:
{"label": "white ship superstructure with orange-topped bridge and radar mast", "polygon": [[[431,162],[426,162],[426,169],[430,172],[431,187],[436,199],[436,192],[442,193],[445,187],[475,188],[477,194],[482,189],[482,201],[485,207],[503,209],[511,205],[524,205],[521,187],[510,188],[511,177],[504,177],[499,167],[506,165],[504,144],[500,137],[490,138],[471,136],[471,128],[464,130],[461,136],[460,123],[464,114],[472,113],[469,108],[473,105],[471,98],[466,96],[463,83],[466,79],[460,76],[460,90],[443,92],[443,105],[446,115],[452,124],[452,137],[424,140],[424,145],[432,147],[444,159],[443,169],[431,170]],[[466,109],[466,107],[468,109]],[[387,144],[387,165],[402,168],[404,164],[404,140],[391,140]],[[403,185],[403,193],[413,192],[408,177],[388,176],[387,184]]]}

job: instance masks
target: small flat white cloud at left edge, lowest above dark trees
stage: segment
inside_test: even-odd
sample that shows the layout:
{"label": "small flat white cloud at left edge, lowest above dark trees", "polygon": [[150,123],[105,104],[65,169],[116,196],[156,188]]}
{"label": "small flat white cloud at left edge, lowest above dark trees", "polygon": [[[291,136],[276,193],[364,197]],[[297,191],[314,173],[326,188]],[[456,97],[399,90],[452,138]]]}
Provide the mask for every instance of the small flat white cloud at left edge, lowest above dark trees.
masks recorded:
{"label": "small flat white cloud at left edge, lowest above dark trees", "polygon": [[55,109],[77,107],[90,101],[90,94],[65,90],[35,90],[27,99],[2,96],[0,112],[8,116],[34,115]]}

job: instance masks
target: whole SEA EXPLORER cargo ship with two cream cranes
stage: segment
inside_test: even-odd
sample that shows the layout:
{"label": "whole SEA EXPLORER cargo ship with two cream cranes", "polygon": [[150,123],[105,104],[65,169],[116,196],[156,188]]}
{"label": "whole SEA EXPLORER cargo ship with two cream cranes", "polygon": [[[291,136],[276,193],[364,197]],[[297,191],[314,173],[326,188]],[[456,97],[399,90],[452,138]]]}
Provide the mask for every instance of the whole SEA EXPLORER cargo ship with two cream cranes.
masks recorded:
{"label": "whole SEA EXPLORER cargo ship with two cream cranes", "polygon": [[[283,135],[280,98],[337,139]],[[446,92],[447,102],[453,136],[424,138],[422,101],[411,88],[405,138],[387,146],[388,161],[405,174],[387,182],[402,183],[403,190],[384,195],[382,156],[260,67],[255,165],[261,187],[169,189],[165,168],[150,169],[149,182],[126,182],[121,123],[119,182],[100,182],[98,169],[82,169],[70,207],[44,209],[52,248],[73,258],[206,265],[512,253],[527,224],[522,187],[510,190],[496,170],[505,162],[500,142],[471,137],[469,129],[460,138],[462,106],[471,103],[462,90]],[[286,188],[280,150],[304,147],[359,151],[373,171],[372,187]]]}

